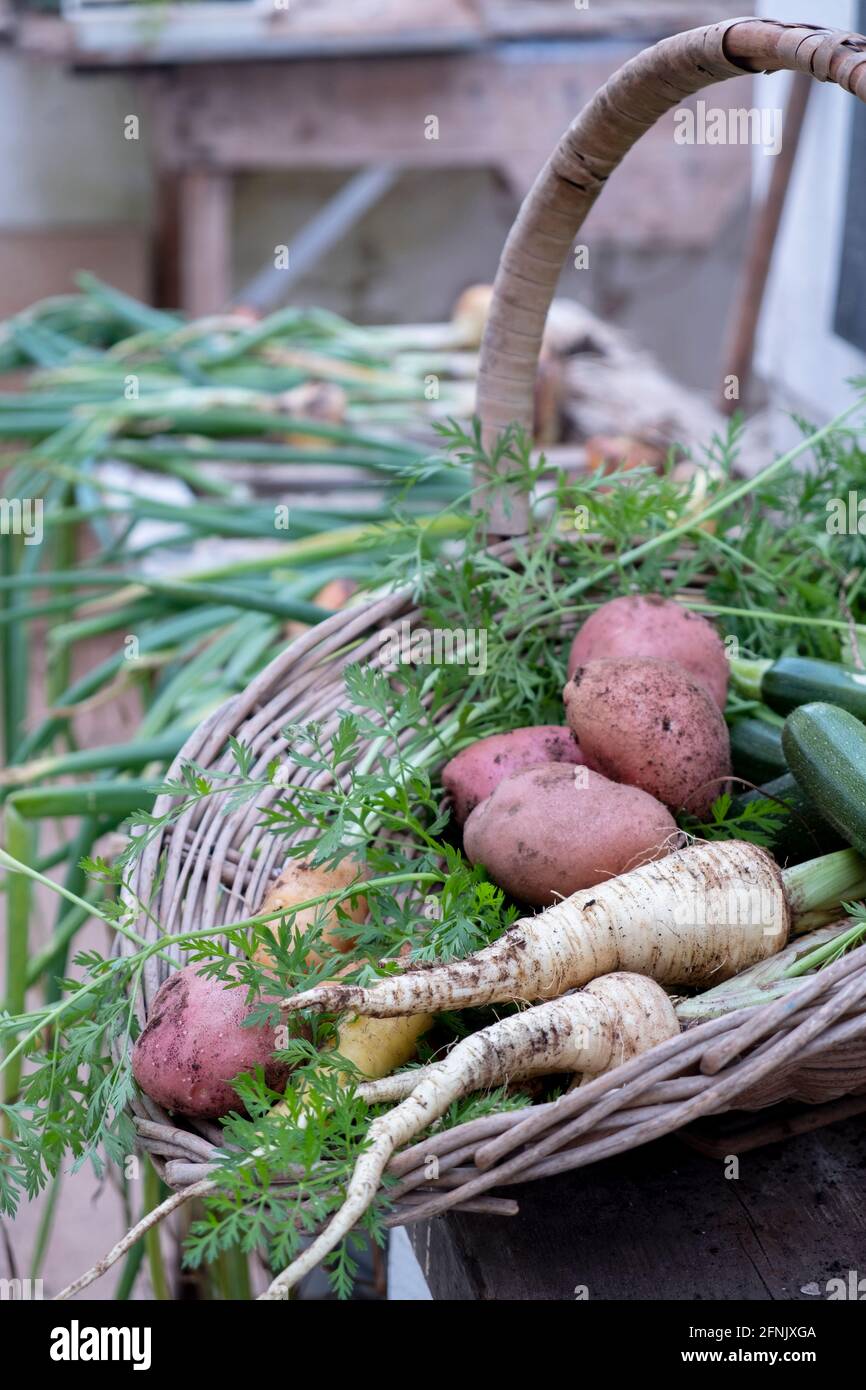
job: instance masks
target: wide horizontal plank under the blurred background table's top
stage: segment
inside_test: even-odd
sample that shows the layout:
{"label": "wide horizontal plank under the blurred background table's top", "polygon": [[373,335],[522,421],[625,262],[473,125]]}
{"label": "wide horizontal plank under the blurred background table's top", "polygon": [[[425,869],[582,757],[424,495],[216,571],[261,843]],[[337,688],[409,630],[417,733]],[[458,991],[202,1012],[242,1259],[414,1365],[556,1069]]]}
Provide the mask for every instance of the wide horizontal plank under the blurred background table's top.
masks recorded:
{"label": "wide horizontal plank under the blurred background table's top", "polygon": [[[517,44],[450,57],[207,64],[142,78],[160,165],[211,170],[493,167],[525,192],[563,129],[637,44],[556,53]],[[749,106],[752,79],[720,104]],[[436,138],[428,138],[434,129]],[[674,142],[653,126],[610,181],[591,231],[621,245],[703,246],[745,206],[751,150]]]}

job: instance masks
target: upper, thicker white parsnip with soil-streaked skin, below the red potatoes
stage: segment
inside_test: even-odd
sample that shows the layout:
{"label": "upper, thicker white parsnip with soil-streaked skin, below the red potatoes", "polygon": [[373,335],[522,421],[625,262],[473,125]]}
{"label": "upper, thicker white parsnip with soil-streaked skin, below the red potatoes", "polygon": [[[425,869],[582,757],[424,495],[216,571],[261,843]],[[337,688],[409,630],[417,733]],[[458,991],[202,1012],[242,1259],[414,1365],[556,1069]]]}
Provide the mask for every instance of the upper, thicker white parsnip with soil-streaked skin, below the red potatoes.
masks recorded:
{"label": "upper, thicker white parsnip with soil-streaked skin, below the red potatoes", "polygon": [[523,917],[464,960],[409,967],[370,988],[321,984],[282,1008],[436,1013],[552,999],[613,970],[705,987],[781,951],[790,917],[781,870],[765,849],[698,844]]}

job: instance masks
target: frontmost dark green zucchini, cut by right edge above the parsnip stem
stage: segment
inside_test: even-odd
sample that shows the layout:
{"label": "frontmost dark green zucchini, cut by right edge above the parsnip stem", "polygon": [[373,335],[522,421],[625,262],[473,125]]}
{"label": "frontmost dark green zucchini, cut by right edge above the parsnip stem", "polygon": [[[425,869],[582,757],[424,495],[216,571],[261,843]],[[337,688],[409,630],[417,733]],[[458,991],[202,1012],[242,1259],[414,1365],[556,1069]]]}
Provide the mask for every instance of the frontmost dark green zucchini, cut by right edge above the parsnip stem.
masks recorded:
{"label": "frontmost dark green zucchini, cut by right edge above the parsnip stem", "polygon": [[824,820],[866,853],[866,727],[835,705],[801,705],[788,714],[781,742]]}

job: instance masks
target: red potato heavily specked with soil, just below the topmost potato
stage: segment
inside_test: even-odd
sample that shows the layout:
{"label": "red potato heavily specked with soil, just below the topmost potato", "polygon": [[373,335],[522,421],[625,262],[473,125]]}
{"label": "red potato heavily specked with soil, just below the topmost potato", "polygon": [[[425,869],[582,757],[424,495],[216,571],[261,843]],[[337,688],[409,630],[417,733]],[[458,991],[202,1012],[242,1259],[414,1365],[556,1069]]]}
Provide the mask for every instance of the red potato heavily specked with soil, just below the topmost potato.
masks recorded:
{"label": "red potato heavily specked with soil, just below the topmost potato", "polygon": [[727,724],[706,688],[674,662],[588,662],[563,698],[587,759],[613,781],[695,816],[724,791]]}

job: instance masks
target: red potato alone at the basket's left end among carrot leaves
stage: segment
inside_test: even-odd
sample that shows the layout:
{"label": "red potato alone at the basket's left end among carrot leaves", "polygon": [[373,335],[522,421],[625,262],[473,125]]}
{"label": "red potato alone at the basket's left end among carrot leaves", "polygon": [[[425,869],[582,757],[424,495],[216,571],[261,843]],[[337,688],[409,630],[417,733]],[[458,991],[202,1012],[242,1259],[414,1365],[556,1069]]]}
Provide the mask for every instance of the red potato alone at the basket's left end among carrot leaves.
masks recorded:
{"label": "red potato alone at the basket's left end among carrot leaves", "polygon": [[132,1049],[132,1073],[167,1111],[214,1119],[242,1109],[232,1077],[261,1066],[268,1086],[281,1090],[289,1072],[274,1059],[272,1027],[242,1027],[254,1008],[247,991],[229,990],[200,969],[188,965],[157,990]]}

